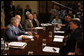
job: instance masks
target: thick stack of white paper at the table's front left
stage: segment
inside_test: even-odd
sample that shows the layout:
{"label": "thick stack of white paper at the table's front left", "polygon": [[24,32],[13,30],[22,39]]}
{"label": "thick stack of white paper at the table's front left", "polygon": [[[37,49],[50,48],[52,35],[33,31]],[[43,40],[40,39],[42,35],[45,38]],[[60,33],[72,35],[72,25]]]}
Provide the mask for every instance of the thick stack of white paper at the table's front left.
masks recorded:
{"label": "thick stack of white paper at the table's front left", "polygon": [[26,45],[27,45],[26,42],[10,42],[8,44],[10,48],[19,48],[19,49],[24,49]]}

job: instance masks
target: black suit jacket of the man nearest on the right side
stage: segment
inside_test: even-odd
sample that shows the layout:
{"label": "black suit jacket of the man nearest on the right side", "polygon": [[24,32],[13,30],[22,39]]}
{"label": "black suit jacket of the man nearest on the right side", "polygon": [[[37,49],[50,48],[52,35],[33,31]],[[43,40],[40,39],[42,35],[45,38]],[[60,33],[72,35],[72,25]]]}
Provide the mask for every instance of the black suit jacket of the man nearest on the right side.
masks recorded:
{"label": "black suit jacket of the man nearest on the right side", "polygon": [[76,41],[81,38],[80,28],[75,29],[68,37],[66,46],[61,49],[61,55],[67,55],[68,52],[75,52]]}

